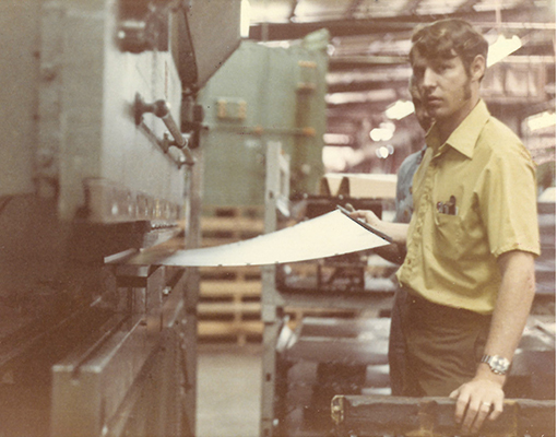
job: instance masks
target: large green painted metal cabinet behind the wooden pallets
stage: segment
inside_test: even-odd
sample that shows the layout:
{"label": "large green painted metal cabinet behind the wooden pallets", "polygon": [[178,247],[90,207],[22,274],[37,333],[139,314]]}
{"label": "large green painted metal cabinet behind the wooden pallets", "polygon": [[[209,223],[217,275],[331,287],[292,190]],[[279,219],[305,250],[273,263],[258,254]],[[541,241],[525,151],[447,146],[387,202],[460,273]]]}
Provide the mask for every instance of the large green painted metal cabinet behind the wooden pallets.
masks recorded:
{"label": "large green painted metal cabinet behind the wooden pallets", "polygon": [[328,43],[327,31],[288,48],[245,40],[200,92],[205,204],[263,204],[266,144],[275,141],[291,155],[291,193],[317,192]]}

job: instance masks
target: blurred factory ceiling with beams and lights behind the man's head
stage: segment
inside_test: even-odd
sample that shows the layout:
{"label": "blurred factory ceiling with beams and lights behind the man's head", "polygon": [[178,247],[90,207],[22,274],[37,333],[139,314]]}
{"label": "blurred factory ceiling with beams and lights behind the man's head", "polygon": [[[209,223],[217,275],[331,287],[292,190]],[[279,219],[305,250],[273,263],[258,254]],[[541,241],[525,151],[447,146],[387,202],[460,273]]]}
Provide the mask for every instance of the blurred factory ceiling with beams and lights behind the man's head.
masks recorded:
{"label": "blurred factory ceiling with beams and lights behind the man's head", "polygon": [[[491,74],[487,82],[496,91],[487,93],[488,104],[507,109],[519,106],[522,111],[524,105],[532,111],[555,110],[555,0],[249,0],[249,39],[287,45],[315,31],[329,31],[328,132],[337,134],[329,135],[325,143],[330,145],[374,150],[368,144],[369,131],[386,121],[388,107],[399,99],[410,99],[407,54],[413,29],[419,23],[443,17],[472,22],[489,43],[499,34],[521,38],[522,47],[500,62],[512,66],[519,73],[514,72],[512,80],[507,75],[501,80],[501,73]],[[531,83],[531,88],[540,90],[508,90],[512,83],[515,90],[523,88],[521,78]],[[414,117],[396,123],[420,134]],[[408,141],[407,134],[398,139],[399,143]],[[391,142],[398,146],[396,138]]]}

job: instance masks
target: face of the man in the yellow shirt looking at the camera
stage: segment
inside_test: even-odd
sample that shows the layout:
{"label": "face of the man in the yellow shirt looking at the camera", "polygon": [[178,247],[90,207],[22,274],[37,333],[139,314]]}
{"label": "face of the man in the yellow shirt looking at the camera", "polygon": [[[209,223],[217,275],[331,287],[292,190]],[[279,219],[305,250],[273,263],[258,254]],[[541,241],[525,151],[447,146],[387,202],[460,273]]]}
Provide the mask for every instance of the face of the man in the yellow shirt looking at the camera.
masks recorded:
{"label": "face of the man in the yellow shirt looking at the camera", "polygon": [[472,98],[471,79],[460,57],[426,59],[416,55],[412,68],[423,104],[431,118],[442,122],[467,114]]}

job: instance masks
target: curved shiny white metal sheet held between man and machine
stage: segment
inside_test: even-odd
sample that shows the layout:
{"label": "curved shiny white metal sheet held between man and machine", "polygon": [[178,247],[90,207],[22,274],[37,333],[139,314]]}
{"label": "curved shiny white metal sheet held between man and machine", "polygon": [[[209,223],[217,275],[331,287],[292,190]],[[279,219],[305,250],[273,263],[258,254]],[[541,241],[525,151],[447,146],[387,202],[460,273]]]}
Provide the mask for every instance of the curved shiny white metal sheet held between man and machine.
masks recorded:
{"label": "curved shiny white metal sheet held between man and machine", "polygon": [[183,267],[265,265],[333,257],[388,244],[337,210],[244,241],[174,252],[171,249],[146,249],[126,262]]}

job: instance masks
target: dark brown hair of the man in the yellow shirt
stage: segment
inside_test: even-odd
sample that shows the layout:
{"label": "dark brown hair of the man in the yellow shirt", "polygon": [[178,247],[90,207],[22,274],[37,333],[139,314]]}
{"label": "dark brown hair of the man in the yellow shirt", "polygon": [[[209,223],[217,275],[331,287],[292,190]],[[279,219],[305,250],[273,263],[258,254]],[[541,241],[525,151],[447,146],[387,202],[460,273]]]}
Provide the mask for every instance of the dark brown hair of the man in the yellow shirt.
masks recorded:
{"label": "dark brown hair of the man in the yellow shirt", "polygon": [[470,72],[477,55],[487,59],[487,40],[467,21],[439,20],[414,31],[410,62],[414,64],[417,54],[426,59],[451,59],[459,56]]}

